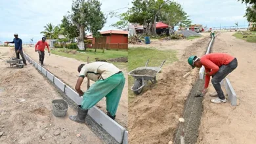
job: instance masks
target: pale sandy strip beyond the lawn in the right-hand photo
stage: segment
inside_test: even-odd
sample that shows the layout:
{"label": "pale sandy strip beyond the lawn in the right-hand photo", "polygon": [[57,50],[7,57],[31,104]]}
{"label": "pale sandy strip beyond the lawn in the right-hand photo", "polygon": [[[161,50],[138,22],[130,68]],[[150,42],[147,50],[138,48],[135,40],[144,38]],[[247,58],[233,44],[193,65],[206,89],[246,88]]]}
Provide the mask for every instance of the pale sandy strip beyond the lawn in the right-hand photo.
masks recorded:
{"label": "pale sandy strip beyond the lawn in the right-hand photo", "polygon": [[150,40],[150,45],[130,45],[129,47],[144,47],[144,48],[157,48],[158,50],[177,50],[178,58],[181,58],[182,52],[187,46],[192,46],[194,43],[198,41],[202,41],[205,37],[209,37],[209,33],[201,33],[202,37],[198,39],[181,39],[181,40],[171,40],[171,41],[160,41],[156,39]]}

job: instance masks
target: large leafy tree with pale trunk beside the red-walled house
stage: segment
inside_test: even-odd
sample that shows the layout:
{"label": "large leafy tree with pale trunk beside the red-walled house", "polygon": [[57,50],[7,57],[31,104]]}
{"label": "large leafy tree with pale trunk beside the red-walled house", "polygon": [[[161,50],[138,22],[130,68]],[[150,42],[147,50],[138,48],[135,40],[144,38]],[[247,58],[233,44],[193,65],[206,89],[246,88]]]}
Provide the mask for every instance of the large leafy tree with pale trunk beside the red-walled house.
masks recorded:
{"label": "large leafy tree with pale trunk beside the red-walled house", "polygon": [[98,30],[106,23],[103,12],[100,11],[101,3],[98,0],[75,0],[72,4],[72,11],[66,18],[79,30],[78,47],[85,48],[85,31],[90,31],[93,36],[98,36]]}

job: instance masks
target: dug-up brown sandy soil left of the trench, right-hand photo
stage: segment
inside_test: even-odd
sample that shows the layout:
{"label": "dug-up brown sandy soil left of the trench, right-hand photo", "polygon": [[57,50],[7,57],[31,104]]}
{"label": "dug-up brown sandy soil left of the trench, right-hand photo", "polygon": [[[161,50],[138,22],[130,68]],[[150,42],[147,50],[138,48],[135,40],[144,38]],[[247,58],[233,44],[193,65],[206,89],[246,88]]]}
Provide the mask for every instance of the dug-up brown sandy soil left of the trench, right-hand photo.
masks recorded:
{"label": "dug-up brown sandy soil left of the trench, right-hand photo", "polygon": [[205,37],[187,46],[178,62],[163,68],[155,86],[129,103],[129,144],[168,143],[173,139],[184,102],[198,75],[198,69],[194,69],[190,76],[182,78],[191,71],[187,58],[202,55],[208,43]]}

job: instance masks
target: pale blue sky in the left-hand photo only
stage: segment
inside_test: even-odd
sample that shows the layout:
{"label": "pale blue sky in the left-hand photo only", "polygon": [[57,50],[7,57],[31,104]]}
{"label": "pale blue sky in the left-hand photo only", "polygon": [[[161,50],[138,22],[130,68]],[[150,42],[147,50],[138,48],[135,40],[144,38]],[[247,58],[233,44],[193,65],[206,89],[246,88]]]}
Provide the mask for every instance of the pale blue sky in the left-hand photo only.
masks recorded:
{"label": "pale blue sky in the left-hand photo only", "polygon": [[[128,6],[129,0],[100,0],[104,14],[110,10],[125,12],[121,9]],[[61,24],[63,16],[71,10],[72,0],[0,0],[0,41],[12,41],[13,34],[18,36],[24,43],[39,41],[44,31],[43,26],[52,23],[54,26]],[[121,10],[116,10],[121,9]],[[118,18],[108,18],[101,31],[114,30],[110,27],[118,21]]]}

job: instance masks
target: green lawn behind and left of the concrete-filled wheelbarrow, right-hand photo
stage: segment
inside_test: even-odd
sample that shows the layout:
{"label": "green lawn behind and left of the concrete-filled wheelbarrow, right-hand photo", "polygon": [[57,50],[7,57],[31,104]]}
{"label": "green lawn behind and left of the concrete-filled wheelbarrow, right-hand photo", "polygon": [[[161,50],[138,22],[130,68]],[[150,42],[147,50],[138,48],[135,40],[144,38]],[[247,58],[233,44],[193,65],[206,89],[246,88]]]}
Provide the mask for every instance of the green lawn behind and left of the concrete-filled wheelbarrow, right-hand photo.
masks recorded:
{"label": "green lawn behind and left of the concrete-filled wheelbarrow, right-hand photo", "polygon": [[[174,50],[156,50],[149,48],[129,48],[128,50],[128,69],[129,71],[136,69],[137,67],[143,67],[148,59],[148,66],[159,67],[163,60],[166,60],[165,64],[175,62],[177,59],[176,51]],[[129,101],[135,98],[135,94],[131,90],[134,79],[129,76],[128,78],[128,90],[129,90]]]}

